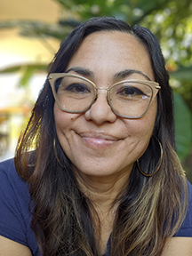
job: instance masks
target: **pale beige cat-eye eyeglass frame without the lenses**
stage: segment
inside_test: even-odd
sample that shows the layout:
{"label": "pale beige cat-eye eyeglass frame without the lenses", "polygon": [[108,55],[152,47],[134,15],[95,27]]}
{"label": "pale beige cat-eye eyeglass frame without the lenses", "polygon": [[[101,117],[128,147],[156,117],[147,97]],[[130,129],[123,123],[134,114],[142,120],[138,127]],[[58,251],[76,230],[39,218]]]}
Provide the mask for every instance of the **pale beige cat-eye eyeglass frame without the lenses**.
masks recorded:
{"label": "pale beige cat-eye eyeglass frame without the lenses", "polygon": [[[64,77],[75,77],[75,78],[80,78],[82,80],[84,80],[85,82],[88,82],[89,84],[92,84],[92,88],[93,88],[93,92],[94,92],[94,95],[92,97],[92,101],[91,103],[89,104],[89,106],[87,106],[86,108],[84,108],[83,110],[81,111],[71,111],[71,110],[68,110],[68,109],[65,109],[63,108],[61,105],[60,105],[60,101],[58,100],[58,96],[57,96],[57,92],[56,92],[56,88],[55,88],[55,82],[57,81],[57,79],[59,78],[64,78]],[[161,86],[154,82],[154,81],[147,81],[147,80],[136,80],[136,79],[132,79],[132,80],[122,80],[120,82],[117,82],[116,84],[111,84],[108,88],[104,88],[104,87],[97,87],[96,84],[94,84],[91,80],[85,78],[84,76],[78,76],[78,75],[75,75],[75,74],[69,74],[69,73],[51,73],[49,76],[47,76],[47,79],[49,80],[50,82],[50,85],[52,87],[52,93],[53,93],[53,96],[54,96],[54,99],[56,101],[56,103],[58,104],[58,106],[60,107],[60,109],[62,109],[63,111],[65,112],[68,112],[68,113],[74,113],[74,114],[77,114],[77,113],[83,113],[85,112],[86,110],[88,110],[89,108],[91,108],[92,104],[95,102],[95,100],[97,100],[97,97],[98,97],[98,90],[105,90],[107,91],[107,100],[108,100],[108,105],[110,106],[110,108],[112,108],[113,112],[116,114],[116,116],[121,116],[121,117],[124,117],[124,118],[128,118],[128,119],[136,119],[136,118],[140,118],[142,116],[145,116],[145,114],[148,112],[148,108],[151,104],[151,102],[154,100],[154,98],[156,97],[156,94],[157,92],[159,92],[159,90],[161,89]],[[145,84],[145,85],[148,85],[148,87],[151,88],[152,90],[152,95],[151,95],[151,99],[149,100],[149,103],[148,103],[148,108],[145,109],[144,113],[140,116],[124,116],[124,115],[121,115],[119,114],[116,109],[113,107],[112,103],[111,103],[111,100],[110,100],[110,90],[111,88],[113,88],[114,86],[116,86],[117,84],[122,84],[122,83],[141,83],[141,84]]]}

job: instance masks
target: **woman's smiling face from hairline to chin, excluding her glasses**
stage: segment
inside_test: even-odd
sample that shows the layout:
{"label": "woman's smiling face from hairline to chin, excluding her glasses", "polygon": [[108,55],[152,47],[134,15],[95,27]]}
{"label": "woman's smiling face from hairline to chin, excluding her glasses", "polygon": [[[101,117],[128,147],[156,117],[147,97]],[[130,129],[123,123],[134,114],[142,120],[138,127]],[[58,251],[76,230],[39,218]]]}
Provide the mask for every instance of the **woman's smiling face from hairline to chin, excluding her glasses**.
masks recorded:
{"label": "woman's smiling face from hairline to chin, excluding her glasses", "polygon": [[[66,71],[90,79],[97,87],[108,88],[119,81],[116,74],[135,69],[124,79],[154,80],[148,52],[135,37],[123,32],[97,32],[85,37]],[[76,70],[76,71],[75,71]],[[86,112],[71,114],[54,105],[56,131],[60,145],[82,175],[104,178],[130,173],[133,163],[143,155],[155,119],[156,99],[140,119],[125,119],[108,105],[107,92]]]}

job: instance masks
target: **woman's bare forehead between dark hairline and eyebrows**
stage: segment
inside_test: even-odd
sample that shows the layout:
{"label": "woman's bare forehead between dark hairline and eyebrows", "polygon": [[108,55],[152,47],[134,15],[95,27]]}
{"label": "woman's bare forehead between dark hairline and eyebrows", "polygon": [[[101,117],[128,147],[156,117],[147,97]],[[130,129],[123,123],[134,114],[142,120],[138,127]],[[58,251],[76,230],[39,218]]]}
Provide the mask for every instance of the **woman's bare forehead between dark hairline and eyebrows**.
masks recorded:
{"label": "woman's bare forehead between dark hairline and eyebrows", "polygon": [[132,68],[154,80],[146,47],[136,37],[119,31],[101,31],[86,36],[68,62],[68,68],[73,67],[100,74]]}

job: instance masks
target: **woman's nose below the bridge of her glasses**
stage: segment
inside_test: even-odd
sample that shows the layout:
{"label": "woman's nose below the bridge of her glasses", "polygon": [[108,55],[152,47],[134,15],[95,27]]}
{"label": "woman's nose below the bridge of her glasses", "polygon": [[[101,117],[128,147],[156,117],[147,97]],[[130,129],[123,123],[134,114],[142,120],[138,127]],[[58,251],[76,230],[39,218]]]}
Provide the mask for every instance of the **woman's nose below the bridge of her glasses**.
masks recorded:
{"label": "woman's nose below the bridge of her glasses", "polygon": [[107,99],[107,92],[108,89],[106,88],[97,88],[98,97],[92,104],[91,108],[89,108],[85,113],[84,116],[87,121],[93,121],[95,124],[103,124],[105,122],[114,123],[116,122],[116,114],[110,108]]}

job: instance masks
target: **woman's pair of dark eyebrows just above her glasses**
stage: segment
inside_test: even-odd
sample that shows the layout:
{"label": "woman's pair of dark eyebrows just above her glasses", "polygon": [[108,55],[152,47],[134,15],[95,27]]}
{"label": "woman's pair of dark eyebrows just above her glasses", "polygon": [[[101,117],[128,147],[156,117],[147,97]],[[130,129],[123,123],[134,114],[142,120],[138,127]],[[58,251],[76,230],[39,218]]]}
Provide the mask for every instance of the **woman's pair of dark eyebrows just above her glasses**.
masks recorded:
{"label": "woman's pair of dark eyebrows just above her glasses", "polygon": [[[81,68],[81,67],[74,67],[74,68],[69,68],[65,73],[68,73],[70,71],[75,71],[76,73],[78,73],[79,75],[82,76],[88,76],[88,77],[94,77],[94,72],[92,72],[91,70],[88,70],[86,68]],[[116,79],[124,79],[127,76],[131,76],[132,74],[140,74],[142,76],[144,76],[145,78],[147,78],[149,81],[151,81],[151,79],[145,75],[144,73],[142,73],[140,70],[137,69],[125,69],[122,70],[118,73],[116,73],[114,75],[114,78]]]}

